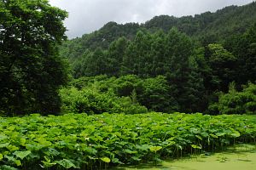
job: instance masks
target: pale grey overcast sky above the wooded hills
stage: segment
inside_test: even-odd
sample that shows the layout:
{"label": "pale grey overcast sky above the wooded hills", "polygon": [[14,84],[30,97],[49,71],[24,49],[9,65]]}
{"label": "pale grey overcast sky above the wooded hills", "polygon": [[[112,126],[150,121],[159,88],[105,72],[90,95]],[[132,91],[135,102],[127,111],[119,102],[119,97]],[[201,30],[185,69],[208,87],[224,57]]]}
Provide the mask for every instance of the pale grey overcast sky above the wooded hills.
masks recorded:
{"label": "pale grey overcast sky above the wooded hills", "polygon": [[67,10],[67,36],[81,37],[96,31],[109,21],[142,23],[155,15],[194,15],[214,12],[229,5],[243,5],[253,0],[49,0]]}

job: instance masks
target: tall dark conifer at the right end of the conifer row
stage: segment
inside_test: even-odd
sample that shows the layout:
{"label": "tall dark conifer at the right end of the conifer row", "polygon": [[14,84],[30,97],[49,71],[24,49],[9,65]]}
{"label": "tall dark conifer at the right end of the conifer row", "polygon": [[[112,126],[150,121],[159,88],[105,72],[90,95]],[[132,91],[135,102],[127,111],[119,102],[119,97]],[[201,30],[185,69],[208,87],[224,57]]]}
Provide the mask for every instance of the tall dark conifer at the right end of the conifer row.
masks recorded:
{"label": "tall dark conifer at the right end of the conifer row", "polygon": [[[194,54],[192,41],[185,34],[172,28],[166,37],[165,76],[170,83],[173,110],[191,112],[196,110],[203,89],[200,74],[196,74],[191,57]],[[194,59],[195,60],[195,59]]]}

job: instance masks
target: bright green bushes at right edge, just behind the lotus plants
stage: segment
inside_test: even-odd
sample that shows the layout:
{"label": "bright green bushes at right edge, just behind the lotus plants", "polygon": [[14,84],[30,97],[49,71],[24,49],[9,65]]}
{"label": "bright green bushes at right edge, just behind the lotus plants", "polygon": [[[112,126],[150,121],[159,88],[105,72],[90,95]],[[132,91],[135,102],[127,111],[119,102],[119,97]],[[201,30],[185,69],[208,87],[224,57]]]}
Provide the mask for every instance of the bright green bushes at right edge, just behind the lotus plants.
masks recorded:
{"label": "bright green bushes at right edge, just behind the lotus plants", "polygon": [[230,84],[228,94],[220,94],[218,103],[209,106],[215,114],[256,114],[256,85],[249,83],[241,92]]}

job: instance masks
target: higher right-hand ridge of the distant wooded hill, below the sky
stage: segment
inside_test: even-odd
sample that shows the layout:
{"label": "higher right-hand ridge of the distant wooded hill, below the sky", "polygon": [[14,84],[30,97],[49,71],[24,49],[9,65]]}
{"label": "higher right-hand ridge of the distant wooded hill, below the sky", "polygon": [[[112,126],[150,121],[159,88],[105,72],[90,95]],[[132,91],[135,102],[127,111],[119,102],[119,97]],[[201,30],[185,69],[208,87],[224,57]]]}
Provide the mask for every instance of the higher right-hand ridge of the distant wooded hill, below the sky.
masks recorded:
{"label": "higher right-hand ridge of the distant wooded hill, below the sky", "polygon": [[231,35],[240,34],[246,31],[248,26],[252,26],[256,17],[255,9],[254,2],[240,7],[226,7],[215,13],[206,12],[181,18],[161,15],[148,20],[143,26],[149,30],[160,28],[165,31],[175,26],[200,42],[218,42]]}

